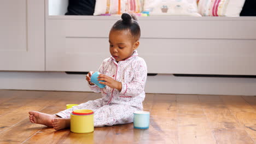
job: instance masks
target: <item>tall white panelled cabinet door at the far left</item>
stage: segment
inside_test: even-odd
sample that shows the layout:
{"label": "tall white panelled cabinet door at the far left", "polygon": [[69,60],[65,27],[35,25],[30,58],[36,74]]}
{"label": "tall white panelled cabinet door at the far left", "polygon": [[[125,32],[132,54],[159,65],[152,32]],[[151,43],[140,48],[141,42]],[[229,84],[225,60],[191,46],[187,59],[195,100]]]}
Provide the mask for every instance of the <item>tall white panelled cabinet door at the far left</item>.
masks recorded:
{"label": "tall white panelled cabinet door at the far left", "polygon": [[44,70],[44,0],[0,4],[0,70]]}

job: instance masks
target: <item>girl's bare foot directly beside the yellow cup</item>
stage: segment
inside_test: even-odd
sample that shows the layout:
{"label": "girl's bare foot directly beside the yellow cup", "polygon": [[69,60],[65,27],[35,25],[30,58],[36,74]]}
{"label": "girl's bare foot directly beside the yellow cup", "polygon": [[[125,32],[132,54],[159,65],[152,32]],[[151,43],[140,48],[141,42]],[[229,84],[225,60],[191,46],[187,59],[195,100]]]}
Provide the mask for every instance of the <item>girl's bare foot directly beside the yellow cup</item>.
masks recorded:
{"label": "girl's bare foot directly beside the yellow cup", "polygon": [[56,130],[70,127],[70,118],[53,118],[51,122],[53,122],[53,127]]}

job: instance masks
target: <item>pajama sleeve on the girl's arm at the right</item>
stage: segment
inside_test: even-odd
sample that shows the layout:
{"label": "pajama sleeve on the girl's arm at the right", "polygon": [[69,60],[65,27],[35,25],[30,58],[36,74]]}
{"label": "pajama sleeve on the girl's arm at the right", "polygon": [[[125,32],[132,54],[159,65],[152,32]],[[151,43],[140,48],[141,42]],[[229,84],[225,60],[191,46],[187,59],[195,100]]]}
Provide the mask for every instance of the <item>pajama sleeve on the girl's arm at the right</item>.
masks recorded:
{"label": "pajama sleeve on the girl's arm at the right", "polygon": [[136,97],[144,91],[144,87],[147,80],[147,65],[146,62],[141,59],[135,65],[133,69],[133,79],[131,82],[122,82],[122,89],[120,94],[124,97]]}

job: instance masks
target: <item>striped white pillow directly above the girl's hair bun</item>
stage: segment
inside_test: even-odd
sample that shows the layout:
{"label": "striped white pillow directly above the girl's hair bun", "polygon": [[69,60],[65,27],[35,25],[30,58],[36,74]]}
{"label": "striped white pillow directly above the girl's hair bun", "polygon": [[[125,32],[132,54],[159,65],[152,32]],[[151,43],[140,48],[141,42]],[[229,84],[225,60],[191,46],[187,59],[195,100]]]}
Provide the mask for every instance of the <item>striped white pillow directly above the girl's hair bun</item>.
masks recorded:
{"label": "striped white pillow directly above the girl's hair bun", "polygon": [[141,0],[96,0],[94,15],[140,12]]}

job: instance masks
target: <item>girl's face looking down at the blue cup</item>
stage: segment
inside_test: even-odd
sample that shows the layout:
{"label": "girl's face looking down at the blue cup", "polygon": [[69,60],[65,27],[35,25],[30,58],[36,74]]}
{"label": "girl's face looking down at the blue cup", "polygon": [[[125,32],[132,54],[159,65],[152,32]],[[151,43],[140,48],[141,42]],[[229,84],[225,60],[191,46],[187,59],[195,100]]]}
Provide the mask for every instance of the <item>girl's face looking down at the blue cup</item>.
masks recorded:
{"label": "girl's face looking down at the blue cup", "polygon": [[129,31],[115,31],[109,33],[109,51],[115,61],[123,61],[132,56],[134,50],[139,46],[139,41],[132,39]]}

